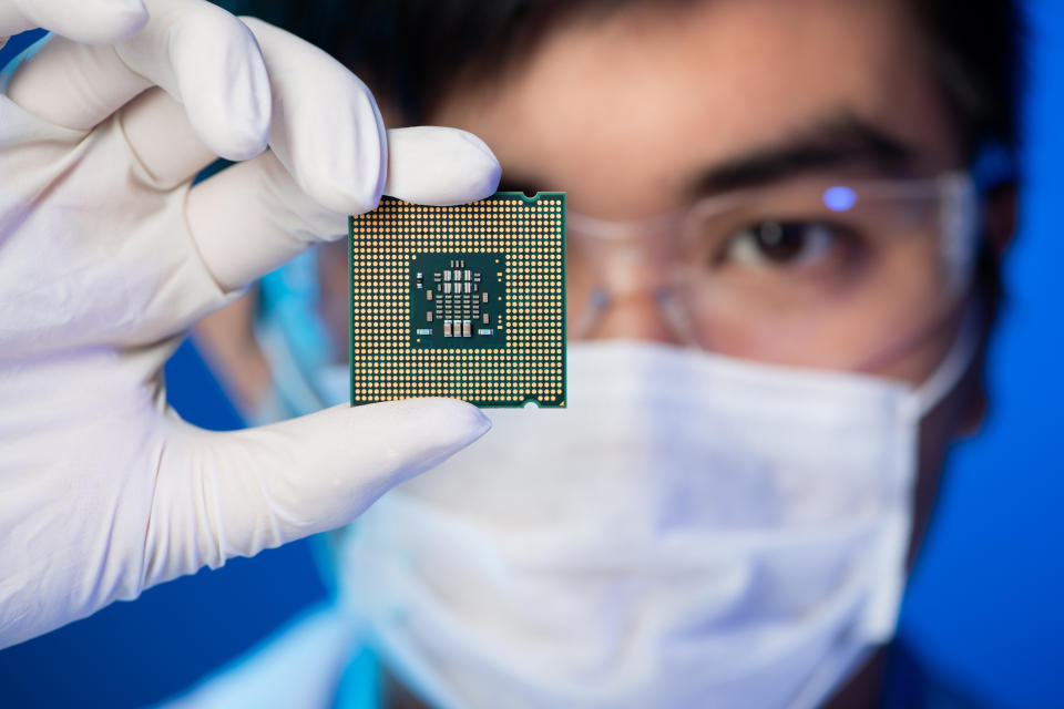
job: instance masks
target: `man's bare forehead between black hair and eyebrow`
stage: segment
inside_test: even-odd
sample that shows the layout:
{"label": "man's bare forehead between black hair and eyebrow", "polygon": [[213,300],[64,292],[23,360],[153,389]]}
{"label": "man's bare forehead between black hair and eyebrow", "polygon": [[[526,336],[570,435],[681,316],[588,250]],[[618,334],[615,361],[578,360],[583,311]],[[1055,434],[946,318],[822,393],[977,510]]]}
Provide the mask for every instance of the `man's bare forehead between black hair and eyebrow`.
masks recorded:
{"label": "man's bare forehead between black hair and eyebrow", "polygon": [[907,0],[634,2],[555,27],[433,120],[481,135],[503,178],[574,209],[676,206],[713,165],[848,113],[952,166],[942,100]]}

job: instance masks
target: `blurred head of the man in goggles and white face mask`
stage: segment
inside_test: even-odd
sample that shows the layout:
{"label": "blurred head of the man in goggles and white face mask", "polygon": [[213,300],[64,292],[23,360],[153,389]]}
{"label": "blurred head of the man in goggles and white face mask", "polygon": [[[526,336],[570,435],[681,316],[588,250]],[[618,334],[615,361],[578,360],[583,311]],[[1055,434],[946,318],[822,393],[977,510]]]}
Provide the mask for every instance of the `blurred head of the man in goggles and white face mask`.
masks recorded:
{"label": "blurred head of the man in goggles and white face mask", "polygon": [[[569,411],[492,412],[339,545],[386,703],[891,700],[903,576],[985,407],[1011,4],[364,2],[297,29],[390,124],[475,132],[503,188],[571,209]],[[217,337],[246,310],[201,329],[253,411],[346,397],[340,249],[316,268],[313,361],[262,318],[272,391]]]}

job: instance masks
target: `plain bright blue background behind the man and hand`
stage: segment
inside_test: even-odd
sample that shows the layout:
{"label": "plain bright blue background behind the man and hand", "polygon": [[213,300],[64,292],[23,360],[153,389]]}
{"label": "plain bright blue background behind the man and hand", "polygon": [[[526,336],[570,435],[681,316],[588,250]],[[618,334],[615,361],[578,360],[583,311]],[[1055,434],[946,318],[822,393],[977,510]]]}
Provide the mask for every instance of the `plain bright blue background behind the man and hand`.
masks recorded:
{"label": "plain bright blue background behind the man and hand", "polygon": [[[1021,232],[992,350],[991,413],[950,464],[902,633],[933,667],[1002,707],[1064,707],[1064,3],[1031,3]],[[24,42],[0,50],[0,65]],[[207,428],[236,412],[187,342],[171,400]],[[0,651],[0,706],[132,707],[188,686],[325,597],[310,544],[235,559]]]}

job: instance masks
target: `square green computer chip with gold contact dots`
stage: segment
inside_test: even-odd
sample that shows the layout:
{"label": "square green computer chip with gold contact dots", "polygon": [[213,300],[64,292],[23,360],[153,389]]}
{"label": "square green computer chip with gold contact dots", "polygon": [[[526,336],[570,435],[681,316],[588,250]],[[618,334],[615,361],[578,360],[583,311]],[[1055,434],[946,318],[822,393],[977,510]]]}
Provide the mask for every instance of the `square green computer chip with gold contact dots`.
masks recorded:
{"label": "square green computer chip with gold contact dots", "polygon": [[565,405],[565,194],[350,218],[351,405]]}

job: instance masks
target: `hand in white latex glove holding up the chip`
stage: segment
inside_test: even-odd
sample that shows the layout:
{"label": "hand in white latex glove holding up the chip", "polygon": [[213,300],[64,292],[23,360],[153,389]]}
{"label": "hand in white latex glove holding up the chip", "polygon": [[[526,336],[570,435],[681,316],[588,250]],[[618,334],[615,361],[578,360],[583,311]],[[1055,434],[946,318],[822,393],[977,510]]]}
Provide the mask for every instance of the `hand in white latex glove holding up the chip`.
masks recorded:
{"label": "hand in white latex glove holding up the chip", "polygon": [[[482,142],[386,133],[327,54],[202,0],[0,0],[0,37],[35,25],[65,37],[0,95],[0,647],[344,525],[488,428],[422,399],[206,432],[161,374],[197,318],[381,192],[491,194]],[[216,155],[245,162],[191,187]]]}

